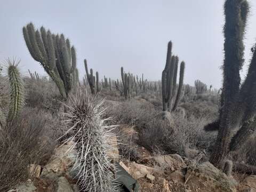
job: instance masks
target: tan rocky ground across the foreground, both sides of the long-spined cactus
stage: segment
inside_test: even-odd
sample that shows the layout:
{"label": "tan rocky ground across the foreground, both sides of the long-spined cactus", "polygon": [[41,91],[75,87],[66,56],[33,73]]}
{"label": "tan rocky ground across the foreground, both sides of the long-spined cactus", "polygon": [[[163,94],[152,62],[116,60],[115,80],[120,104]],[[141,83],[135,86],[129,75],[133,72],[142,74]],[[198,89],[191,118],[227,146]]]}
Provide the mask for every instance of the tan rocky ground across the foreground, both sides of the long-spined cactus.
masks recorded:
{"label": "tan rocky ground across the foreground, both sides of the long-spined cactus", "polygon": [[[132,127],[126,134],[136,134]],[[74,151],[66,151],[70,143],[55,149],[46,166],[30,165],[30,179],[26,183],[13,187],[9,192],[76,192],[76,180],[71,167],[74,164]],[[117,145],[118,146],[118,145]],[[140,184],[140,191],[256,191],[256,175],[236,175],[227,177],[209,162],[200,162],[203,153],[197,153],[193,159],[177,154],[151,155],[143,147],[137,149],[141,158],[130,162],[125,158],[113,159],[129,172]],[[111,153],[118,153],[117,147]],[[199,163],[200,162],[200,163]],[[239,178],[239,179],[238,179]],[[241,179],[243,178],[243,179]]]}

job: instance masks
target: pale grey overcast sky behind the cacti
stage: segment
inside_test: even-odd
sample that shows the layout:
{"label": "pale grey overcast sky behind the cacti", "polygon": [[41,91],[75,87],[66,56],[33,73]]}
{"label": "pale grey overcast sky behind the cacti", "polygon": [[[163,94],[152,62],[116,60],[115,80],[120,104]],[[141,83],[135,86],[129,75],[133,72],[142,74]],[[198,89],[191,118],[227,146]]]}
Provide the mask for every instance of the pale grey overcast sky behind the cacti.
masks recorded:
{"label": "pale grey overcast sky behind the cacti", "polygon": [[[185,83],[200,79],[221,86],[223,54],[222,0],[109,0],[109,1],[4,1],[0,0],[0,60],[17,56],[24,73],[27,69],[43,74],[30,56],[22,37],[22,27],[32,21],[53,33],[63,33],[77,50],[80,77],[86,58],[90,68],[119,78],[120,68],[161,79],[167,42],[173,53],[186,62]],[[256,2],[251,1],[251,17],[245,39],[246,63],[255,42]],[[243,75],[246,68],[243,70]]]}

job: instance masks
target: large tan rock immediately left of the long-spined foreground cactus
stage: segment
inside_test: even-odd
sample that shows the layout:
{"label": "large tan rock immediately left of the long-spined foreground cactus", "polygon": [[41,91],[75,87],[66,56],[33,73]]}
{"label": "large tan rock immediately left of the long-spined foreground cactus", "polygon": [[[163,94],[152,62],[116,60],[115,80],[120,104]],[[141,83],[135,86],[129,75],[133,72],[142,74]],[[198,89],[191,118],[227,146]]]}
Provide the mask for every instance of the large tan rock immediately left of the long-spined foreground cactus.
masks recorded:
{"label": "large tan rock immediately left of the long-spined foreground cactus", "polygon": [[74,165],[76,159],[75,150],[69,150],[72,145],[73,143],[69,142],[68,145],[62,145],[54,150],[49,163],[45,165],[42,171],[42,177],[49,173],[61,175],[71,170],[70,168]]}

